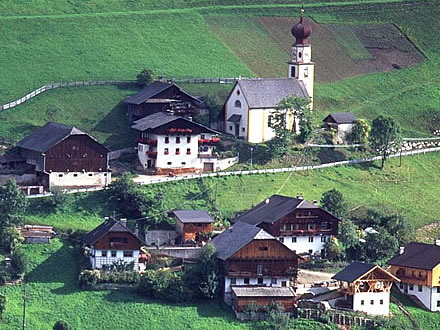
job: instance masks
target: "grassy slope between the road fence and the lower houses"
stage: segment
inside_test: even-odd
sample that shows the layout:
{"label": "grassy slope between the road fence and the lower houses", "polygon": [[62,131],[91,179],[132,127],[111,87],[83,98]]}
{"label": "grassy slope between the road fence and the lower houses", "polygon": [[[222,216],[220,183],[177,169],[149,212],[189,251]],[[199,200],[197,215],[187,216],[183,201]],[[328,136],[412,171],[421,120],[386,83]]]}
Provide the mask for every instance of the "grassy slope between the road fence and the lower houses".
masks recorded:
{"label": "grassy slope between the road fence and the lower houses", "polygon": [[[439,163],[440,155],[427,154],[403,158],[402,167],[398,159],[391,160],[383,171],[364,164],[292,174],[211,178],[204,184],[199,180],[171,182],[145,186],[145,189],[163,194],[166,209],[212,211],[210,197],[216,201],[220,213],[228,218],[275,193],[288,196],[302,193],[308,200],[319,200],[325,191],[335,188],[344,194],[352,209],[379,208],[397,212],[419,228],[438,220],[433,205],[440,203]],[[75,195],[75,198],[72,210],[65,213],[48,214],[44,209],[31,207],[27,222],[89,230],[99,224],[102,217],[117,211],[104,192]]]}

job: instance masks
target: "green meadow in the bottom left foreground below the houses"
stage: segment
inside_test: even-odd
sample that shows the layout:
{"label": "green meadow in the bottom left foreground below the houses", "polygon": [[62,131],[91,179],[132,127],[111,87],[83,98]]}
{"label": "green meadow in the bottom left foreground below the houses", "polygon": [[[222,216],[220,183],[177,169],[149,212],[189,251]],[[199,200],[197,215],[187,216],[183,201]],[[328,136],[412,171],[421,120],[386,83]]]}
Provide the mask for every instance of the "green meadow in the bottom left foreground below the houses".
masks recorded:
{"label": "green meadow in the bottom left foreground below the houses", "polygon": [[[63,319],[74,329],[249,329],[223,304],[211,301],[166,304],[135,293],[81,291],[77,285],[79,251],[65,241],[26,245],[31,270],[26,275],[27,327],[52,329]],[[22,322],[22,286],[0,287],[8,304],[1,329],[15,330]]]}

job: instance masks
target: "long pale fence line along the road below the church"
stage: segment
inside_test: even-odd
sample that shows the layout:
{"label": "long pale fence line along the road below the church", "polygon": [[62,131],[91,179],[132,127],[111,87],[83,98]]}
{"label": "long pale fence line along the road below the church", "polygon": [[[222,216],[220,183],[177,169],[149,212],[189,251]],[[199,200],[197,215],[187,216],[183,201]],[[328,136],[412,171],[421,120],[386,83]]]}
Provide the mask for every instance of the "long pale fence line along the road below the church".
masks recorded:
{"label": "long pale fence line along the road below the church", "polygon": [[[412,151],[404,151],[402,153],[398,152],[395,154],[392,154],[389,156],[389,158],[396,158],[400,156],[412,156],[412,155],[418,155],[418,154],[425,154],[430,152],[438,152],[440,151],[440,147],[437,148],[428,148],[428,149],[418,149],[418,150],[412,150]],[[370,157],[370,158],[362,158],[362,159],[352,159],[352,160],[344,160],[340,162],[334,162],[334,163],[326,163],[321,165],[310,165],[310,166],[296,166],[296,167],[284,167],[284,168],[268,168],[268,169],[261,169],[261,170],[240,170],[240,171],[224,171],[224,172],[213,172],[213,173],[200,173],[200,174],[188,174],[188,175],[181,175],[176,177],[162,177],[158,179],[150,179],[145,181],[138,181],[141,185],[149,185],[149,184],[155,184],[155,183],[163,183],[163,182],[170,182],[170,181],[182,181],[182,180],[192,180],[192,179],[198,179],[198,178],[209,178],[209,177],[221,177],[221,176],[231,176],[231,175],[249,175],[249,174],[266,174],[266,173],[284,173],[284,172],[299,172],[299,171],[306,171],[306,170],[316,170],[321,168],[327,168],[327,167],[336,167],[336,166],[344,166],[344,165],[352,165],[352,164],[361,164],[361,163],[368,163],[375,160],[380,160],[381,157]],[[98,188],[85,188],[85,189],[73,189],[69,191],[69,194],[75,194],[80,192],[88,192],[88,191],[99,191],[104,190],[106,188],[104,187],[98,187]],[[39,195],[30,195],[26,196],[28,198],[38,198],[38,197],[46,197],[50,196],[50,193],[46,194],[39,194]]]}

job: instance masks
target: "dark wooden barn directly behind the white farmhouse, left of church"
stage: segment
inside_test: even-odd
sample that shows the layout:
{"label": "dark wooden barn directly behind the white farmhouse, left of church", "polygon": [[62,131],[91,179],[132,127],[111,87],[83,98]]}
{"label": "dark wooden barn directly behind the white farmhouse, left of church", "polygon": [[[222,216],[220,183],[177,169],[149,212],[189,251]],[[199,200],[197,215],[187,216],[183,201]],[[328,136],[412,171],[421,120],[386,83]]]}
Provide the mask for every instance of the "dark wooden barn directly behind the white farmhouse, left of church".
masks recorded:
{"label": "dark wooden barn directly behind the white farmhouse, left of church", "polygon": [[167,111],[185,117],[193,116],[203,104],[173,82],[164,81],[154,81],[124,103],[127,104],[127,116],[131,121]]}

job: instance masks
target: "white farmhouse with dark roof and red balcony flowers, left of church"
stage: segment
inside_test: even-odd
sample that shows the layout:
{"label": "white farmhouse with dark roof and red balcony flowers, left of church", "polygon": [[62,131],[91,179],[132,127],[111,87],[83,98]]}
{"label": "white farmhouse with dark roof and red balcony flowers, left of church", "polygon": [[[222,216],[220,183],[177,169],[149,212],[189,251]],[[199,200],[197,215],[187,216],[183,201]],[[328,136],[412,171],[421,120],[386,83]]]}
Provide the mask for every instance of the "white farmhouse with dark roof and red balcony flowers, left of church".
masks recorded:
{"label": "white farmhouse with dark roof and red balcony flowers, left of church", "polygon": [[139,131],[138,158],[157,174],[217,170],[216,131],[187,118],[159,112],[134,122]]}

